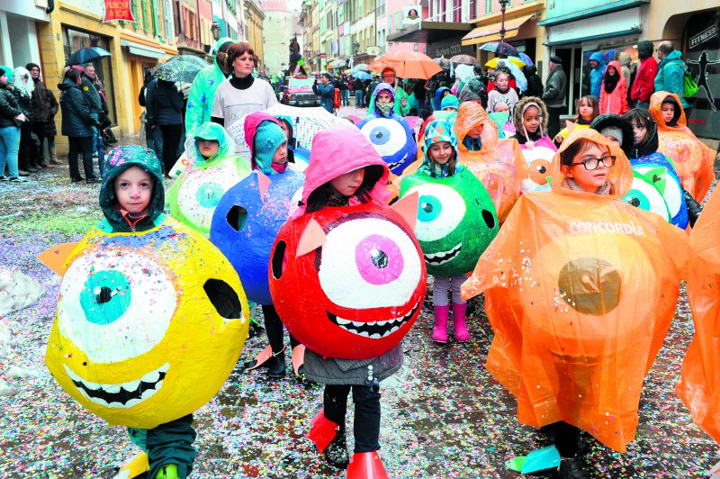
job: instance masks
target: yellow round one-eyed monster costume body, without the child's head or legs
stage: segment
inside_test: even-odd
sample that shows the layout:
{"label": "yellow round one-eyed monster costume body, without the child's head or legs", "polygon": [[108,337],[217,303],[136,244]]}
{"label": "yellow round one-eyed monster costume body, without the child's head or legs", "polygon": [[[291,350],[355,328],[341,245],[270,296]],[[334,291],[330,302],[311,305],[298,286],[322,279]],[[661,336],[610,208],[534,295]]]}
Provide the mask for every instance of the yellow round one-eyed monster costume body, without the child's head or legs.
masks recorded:
{"label": "yellow round one-eyed monster costume body, without the child's head or legs", "polygon": [[167,218],[93,230],[67,263],[45,361],[112,425],[151,429],[210,401],[238,361],[249,308],[210,241]]}

